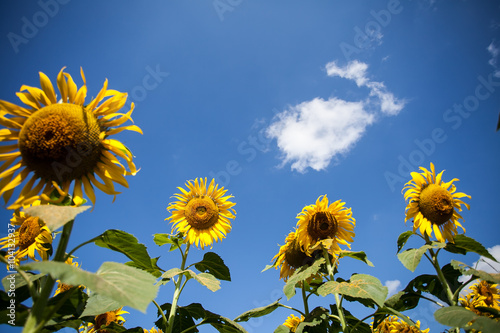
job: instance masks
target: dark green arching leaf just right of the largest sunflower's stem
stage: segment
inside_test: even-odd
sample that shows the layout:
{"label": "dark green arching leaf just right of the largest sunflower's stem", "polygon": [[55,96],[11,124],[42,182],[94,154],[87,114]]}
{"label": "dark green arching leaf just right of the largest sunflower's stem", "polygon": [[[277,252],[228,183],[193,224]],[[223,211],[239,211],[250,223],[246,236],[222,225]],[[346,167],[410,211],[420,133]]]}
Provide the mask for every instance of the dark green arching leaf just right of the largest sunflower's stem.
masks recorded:
{"label": "dark green arching leaf just right of the largest sunflower's stem", "polygon": [[156,262],[151,259],[144,244],[139,243],[137,238],[122,230],[106,230],[97,240],[94,241],[97,246],[104,247],[126,255],[133,261],[134,266],[143,269],[155,277],[161,275]]}

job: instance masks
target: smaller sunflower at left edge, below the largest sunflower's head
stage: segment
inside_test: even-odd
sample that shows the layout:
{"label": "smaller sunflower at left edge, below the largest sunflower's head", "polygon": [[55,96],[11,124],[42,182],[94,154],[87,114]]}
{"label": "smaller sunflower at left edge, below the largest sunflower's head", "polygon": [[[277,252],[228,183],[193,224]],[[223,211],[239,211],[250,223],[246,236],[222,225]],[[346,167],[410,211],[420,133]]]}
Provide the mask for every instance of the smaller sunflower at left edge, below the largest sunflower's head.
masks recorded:
{"label": "smaller sunflower at left edge, below the largest sunflower's head", "polygon": [[[39,201],[35,201],[33,206],[39,204]],[[9,264],[19,265],[21,261],[27,259],[26,257],[38,261],[36,253],[42,260],[49,258],[52,254],[53,239],[52,233],[43,220],[16,209],[10,222],[19,228],[0,239],[0,249],[8,249]]]}

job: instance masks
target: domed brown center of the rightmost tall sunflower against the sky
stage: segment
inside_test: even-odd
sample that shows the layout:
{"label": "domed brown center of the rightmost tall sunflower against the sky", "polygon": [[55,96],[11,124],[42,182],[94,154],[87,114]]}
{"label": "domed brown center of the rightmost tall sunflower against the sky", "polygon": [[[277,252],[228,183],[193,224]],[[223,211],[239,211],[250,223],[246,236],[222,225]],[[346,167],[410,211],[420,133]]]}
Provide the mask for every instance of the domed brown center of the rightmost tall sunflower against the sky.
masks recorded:
{"label": "domed brown center of the rightmost tall sunflower against the sky", "polygon": [[418,208],[431,223],[442,225],[453,216],[453,197],[436,184],[429,184],[420,193]]}

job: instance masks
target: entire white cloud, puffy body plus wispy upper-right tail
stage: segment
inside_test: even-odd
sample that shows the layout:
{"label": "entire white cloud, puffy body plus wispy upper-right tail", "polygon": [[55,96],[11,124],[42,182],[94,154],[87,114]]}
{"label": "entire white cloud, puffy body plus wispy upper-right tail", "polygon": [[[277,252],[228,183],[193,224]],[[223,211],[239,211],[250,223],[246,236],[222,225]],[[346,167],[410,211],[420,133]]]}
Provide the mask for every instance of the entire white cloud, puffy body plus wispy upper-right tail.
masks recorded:
{"label": "entire white cloud, puffy body plus wispy upper-right tail", "polygon": [[401,111],[406,102],[395,98],[382,82],[370,81],[367,69],[368,65],[359,61],[351,61],[345,67],[335,62],[326,65],[328,76],[353,80],[358,87],[369,88],[369,96],[375,99],[352,102],[316,97],[275,116],[266,134],[276,139],[282,166],[291,163],[292,170],[299,172],[308,167],[324,170],[332,159],[336,161],[354,147],[366,127],[375,121],[377,110],[386,115]]}

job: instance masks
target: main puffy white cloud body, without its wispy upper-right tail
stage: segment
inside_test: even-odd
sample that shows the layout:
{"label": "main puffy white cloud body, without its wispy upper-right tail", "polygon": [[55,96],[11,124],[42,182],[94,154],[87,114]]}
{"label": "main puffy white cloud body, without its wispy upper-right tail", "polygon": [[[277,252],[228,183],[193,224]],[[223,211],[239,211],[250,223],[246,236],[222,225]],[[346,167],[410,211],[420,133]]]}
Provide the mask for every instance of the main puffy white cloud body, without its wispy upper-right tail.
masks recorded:
{"label": "main puffy white cloud body, without its wispy upper-right tail", "polygon": [[267,134],[277,140],[283,164],[293,162],[292,170],[299,172],[319,171],[351,149],[373,120],[362,102],[315,98],[278,114]]}

